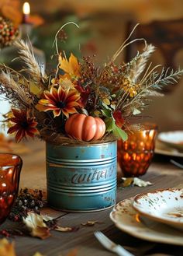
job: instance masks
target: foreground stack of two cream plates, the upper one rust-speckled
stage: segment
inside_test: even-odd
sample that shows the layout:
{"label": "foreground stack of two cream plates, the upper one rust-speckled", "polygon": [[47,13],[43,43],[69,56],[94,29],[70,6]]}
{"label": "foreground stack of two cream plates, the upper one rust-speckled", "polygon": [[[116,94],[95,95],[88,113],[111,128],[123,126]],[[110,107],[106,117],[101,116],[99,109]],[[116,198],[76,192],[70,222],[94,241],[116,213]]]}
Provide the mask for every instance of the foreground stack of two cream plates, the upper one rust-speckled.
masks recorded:
{"label": "foreground stack of two cream plates, the upper one rust-speckled", "polygon": [[119,202],[112,222],[134,237],[183,246],[183,188],[158,190]]}

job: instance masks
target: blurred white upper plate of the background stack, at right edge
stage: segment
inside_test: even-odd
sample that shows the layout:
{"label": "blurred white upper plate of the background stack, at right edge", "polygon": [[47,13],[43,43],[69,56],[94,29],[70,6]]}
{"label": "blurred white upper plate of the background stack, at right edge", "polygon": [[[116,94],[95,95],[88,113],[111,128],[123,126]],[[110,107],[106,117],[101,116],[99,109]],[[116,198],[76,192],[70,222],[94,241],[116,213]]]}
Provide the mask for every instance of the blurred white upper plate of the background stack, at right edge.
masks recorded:
{"label": "blurred white upper plate of the background stack, at right edge", "polygon": [[183,150],[183,131],[160,132],[157,139],[174,149]]}

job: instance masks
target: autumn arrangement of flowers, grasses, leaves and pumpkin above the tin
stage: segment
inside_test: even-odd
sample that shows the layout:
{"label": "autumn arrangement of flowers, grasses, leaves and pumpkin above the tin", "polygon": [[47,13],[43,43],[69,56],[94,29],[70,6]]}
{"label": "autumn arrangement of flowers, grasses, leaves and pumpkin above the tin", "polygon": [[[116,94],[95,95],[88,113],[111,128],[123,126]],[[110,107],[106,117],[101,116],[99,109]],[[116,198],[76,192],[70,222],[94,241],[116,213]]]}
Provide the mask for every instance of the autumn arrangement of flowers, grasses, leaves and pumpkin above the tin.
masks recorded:
{"label": "autumn arrangement of flowers, grasses, leaves and pumpkin above the tin", "polygon": [[91,57],[78,61],[71,53],[67,59],[57,47],[63,27],[55,37],[58,64],[50,75],[42,71],[31,44],[23,40],[15,45],[25,68],[16,72],[1,66],[0,93],[12,104],[6,115],[8,133],[15,133],[17,142],[34,136],[62,144],[126,140],[125,131],[142,117],[150,96],[162,96],[162,87],[178,82],[183,71],[162,68],[158,73],[160,65],[147,65],[155,47],[145,40],[142,53],[116,65],[119,54],[134,42],[129,38],[135,28],[102,67],[96,67]]}

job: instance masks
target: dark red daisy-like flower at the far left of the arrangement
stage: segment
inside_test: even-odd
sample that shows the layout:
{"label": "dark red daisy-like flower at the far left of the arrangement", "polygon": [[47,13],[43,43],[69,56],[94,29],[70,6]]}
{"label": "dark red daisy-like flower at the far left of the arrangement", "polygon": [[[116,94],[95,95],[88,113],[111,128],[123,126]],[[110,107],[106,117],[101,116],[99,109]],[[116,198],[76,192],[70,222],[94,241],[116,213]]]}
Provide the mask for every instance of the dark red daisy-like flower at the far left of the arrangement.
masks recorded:
{"label": "dark red daisy-like flower at the far left of the arrangement", "polygon": [[34,137],[39,132],[36,129],[37,122],[34,117],[29,117],[27,110],[15,110],[12,109],[13,117],[9,118],[9,123],[12,127],[9,128],[8,133],[12,134],[16,132],[16,142],[20,142],[26,136]]}

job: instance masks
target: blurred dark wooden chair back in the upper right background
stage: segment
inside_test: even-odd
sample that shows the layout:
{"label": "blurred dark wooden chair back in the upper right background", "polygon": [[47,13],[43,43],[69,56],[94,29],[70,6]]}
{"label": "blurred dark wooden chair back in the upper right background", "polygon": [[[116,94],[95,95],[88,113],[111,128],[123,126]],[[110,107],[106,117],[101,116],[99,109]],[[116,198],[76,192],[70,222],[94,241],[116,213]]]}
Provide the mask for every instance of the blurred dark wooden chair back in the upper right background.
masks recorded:
{"label": "blurred dark wooden chair back in the upper right background", "polygon": [[[126,26],[126,37],[136,25],[134,22],[129,22]],[[161,52],[164,59],[164,68],[170,67],[176,69],[175,57],[178,51],[183,49],[183,19],[154,21],[152,23],[140,24],[136,27],[132,39],[145,38],[147,44],[154,44]],[[129,61],[139,49],[140,41],[135,44],[130,44],[126,51],[126,61]],[[143,45],[144,46],[144,45]],[[174,86],[166,86],[167,93],[174,89]]]}

